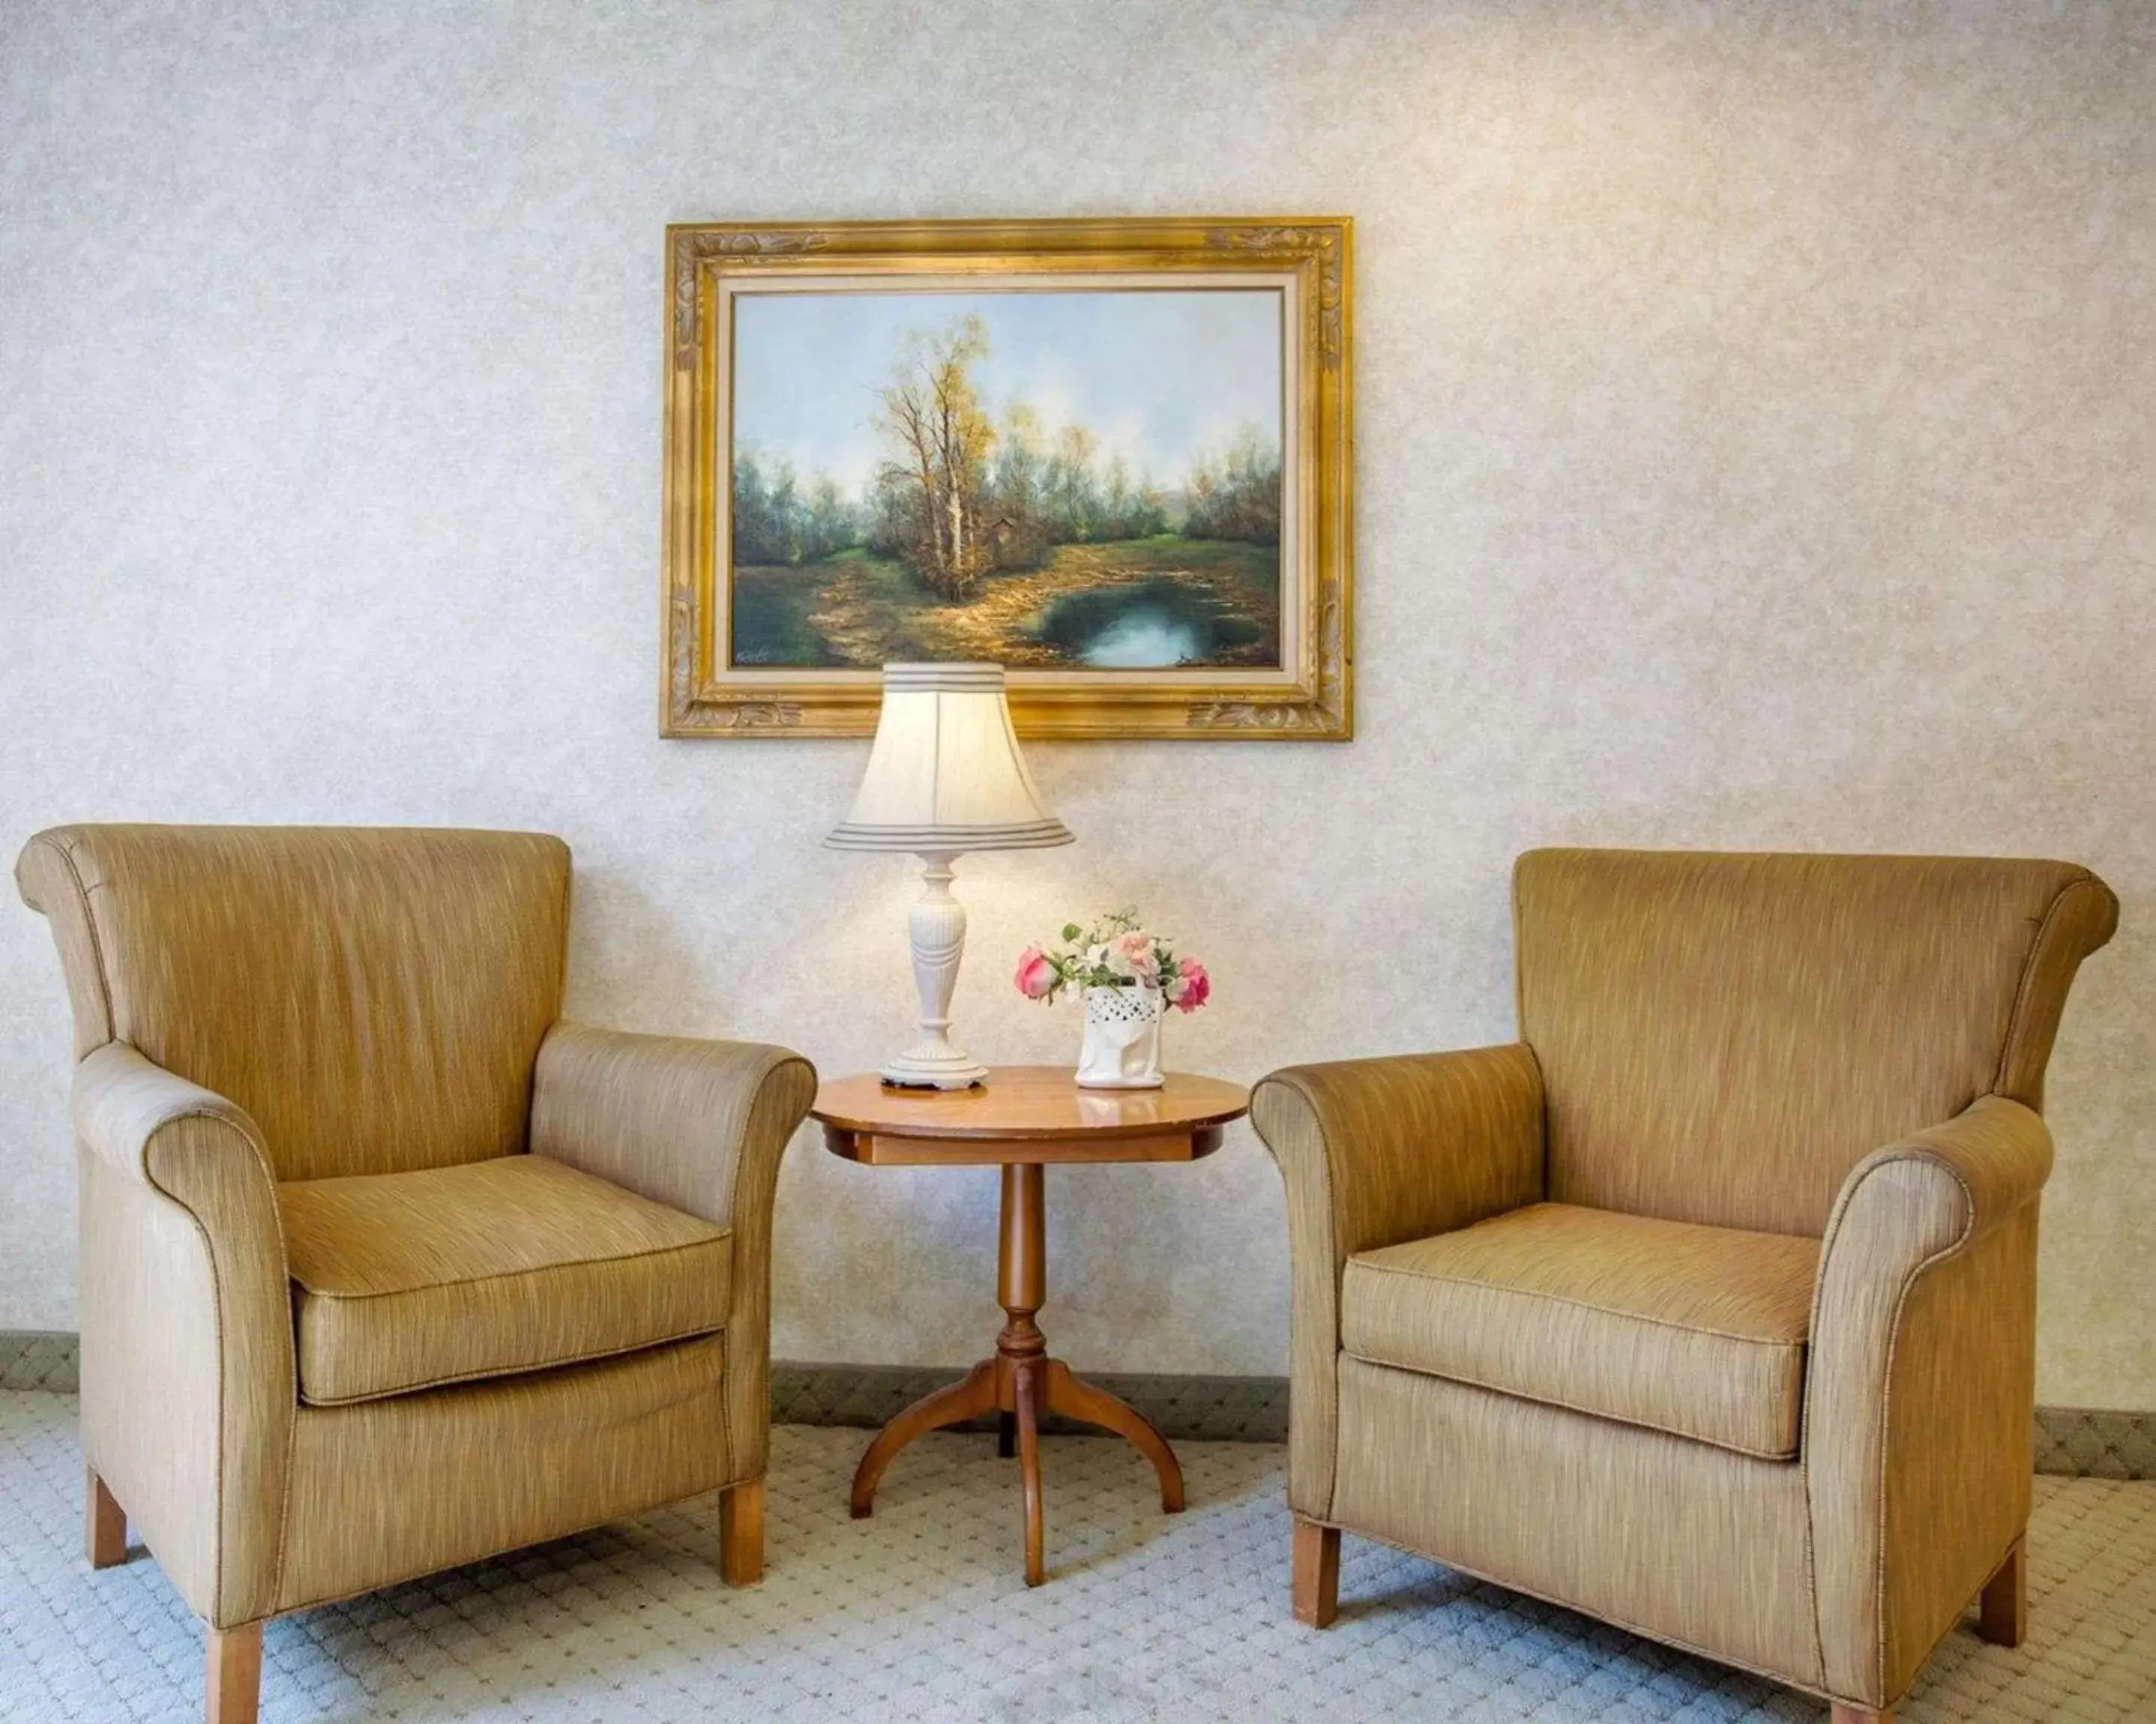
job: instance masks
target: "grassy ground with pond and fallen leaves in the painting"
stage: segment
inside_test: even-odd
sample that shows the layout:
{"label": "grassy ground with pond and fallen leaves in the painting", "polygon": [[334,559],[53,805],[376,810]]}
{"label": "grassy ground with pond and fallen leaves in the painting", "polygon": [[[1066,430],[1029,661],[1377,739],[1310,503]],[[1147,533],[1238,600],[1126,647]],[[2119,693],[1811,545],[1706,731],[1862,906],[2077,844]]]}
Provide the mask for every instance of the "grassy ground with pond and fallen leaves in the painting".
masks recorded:
{"label": "grassy ground with pond and fallen leaves in the painting", "polygon": [[873,670],[893,659],[1274,666],[1279,545],[1175,532],[1054,545],[1033,567],[985,571],[964,597],[862,547],[735,567],[735,664]]}

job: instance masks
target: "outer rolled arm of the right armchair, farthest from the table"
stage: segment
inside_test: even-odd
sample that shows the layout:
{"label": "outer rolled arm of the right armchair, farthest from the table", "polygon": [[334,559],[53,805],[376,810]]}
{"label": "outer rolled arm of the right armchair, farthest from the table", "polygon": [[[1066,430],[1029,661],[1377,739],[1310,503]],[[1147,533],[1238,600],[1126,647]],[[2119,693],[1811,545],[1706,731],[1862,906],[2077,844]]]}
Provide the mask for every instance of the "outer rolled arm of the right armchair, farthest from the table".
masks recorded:
{"label": "outer rolled arm of the right armchair, farthest from the table", "polygon": [[1986,1095],[1867,1155],[1835,1200],[1805,1373],[1835,1694],[1893,1705],[2029,1519],[2050,1159],[2044,1121]]}

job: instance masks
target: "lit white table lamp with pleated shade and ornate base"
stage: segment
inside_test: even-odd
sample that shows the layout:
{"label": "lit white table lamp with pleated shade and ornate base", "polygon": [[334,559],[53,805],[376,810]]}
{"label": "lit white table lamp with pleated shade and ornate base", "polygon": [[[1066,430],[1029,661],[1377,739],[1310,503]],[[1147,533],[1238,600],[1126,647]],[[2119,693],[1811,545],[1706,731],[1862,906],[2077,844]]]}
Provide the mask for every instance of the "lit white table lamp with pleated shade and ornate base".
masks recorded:
{"label": "lit white table lamp with pleated shade and ornate base", "polygon": [[886,664],[869,771],[828,838],[834,849],[903,849],[925,890],[908,918],[921,1039],[882,1067],[895,1088],[964,1090],[987,1067],[951,1045],[951,989],[966,948],[966,907],[951,862],[977,849],[1072,843],[1033,784],[1011,731],[1000,664]]}

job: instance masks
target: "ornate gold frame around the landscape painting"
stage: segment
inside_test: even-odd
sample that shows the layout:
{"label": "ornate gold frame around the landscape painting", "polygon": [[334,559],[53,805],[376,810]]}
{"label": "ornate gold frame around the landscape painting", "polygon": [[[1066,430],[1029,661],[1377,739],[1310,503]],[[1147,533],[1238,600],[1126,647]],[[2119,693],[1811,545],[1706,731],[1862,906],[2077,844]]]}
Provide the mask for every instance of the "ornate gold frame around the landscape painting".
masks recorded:
{"label": "ornate gold frame around the landscape painting", "polygon": [[[1354,224],[1326,218],[1056,218],[962,222],[696,222],[666,228],[660,735],[867,737],[875,670],[770,670],[727,651],[731,552],[731,293],[908,278],[1026,276],[1102,287],[1177,276],[1281,287],[1283,470],[1279,668],[1011,668],[1028,739],[1348,741],[1354,735],[1352,306]],[[1294,543],[1289,543],[1289,539]]]}

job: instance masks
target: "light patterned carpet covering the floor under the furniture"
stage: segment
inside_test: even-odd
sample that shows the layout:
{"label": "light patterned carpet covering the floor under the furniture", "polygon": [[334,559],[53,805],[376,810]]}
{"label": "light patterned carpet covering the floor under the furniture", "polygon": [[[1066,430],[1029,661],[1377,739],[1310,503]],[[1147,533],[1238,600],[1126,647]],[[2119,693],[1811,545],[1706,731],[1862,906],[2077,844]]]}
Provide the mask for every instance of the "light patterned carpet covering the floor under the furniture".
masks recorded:
{"label": "light patterned carpet covering the floor under the furniture", "polygon": [[[82,1562],[71,1396],[0,1394],[0,1718],[198,1720],[201,1633],[157,1565]],[[1050,1584],[1020,1577],[1015,1463],[938,1435],[849,1521],[860,1431],[780,1427],[770,1571],[731,1593],[699,1500],[270,1625],[263,1718],[1818,1720],[1785,1690],[1345,1541],[1341,1621],[1287,1616],[1283,1450],[1184,1444],[1158,1513],[1119,1442],[1056,1437]],[[2156,1720],[2156,1483],[2037,1480],[2029,1644],[1953,1633],[1927,1720]]]}

